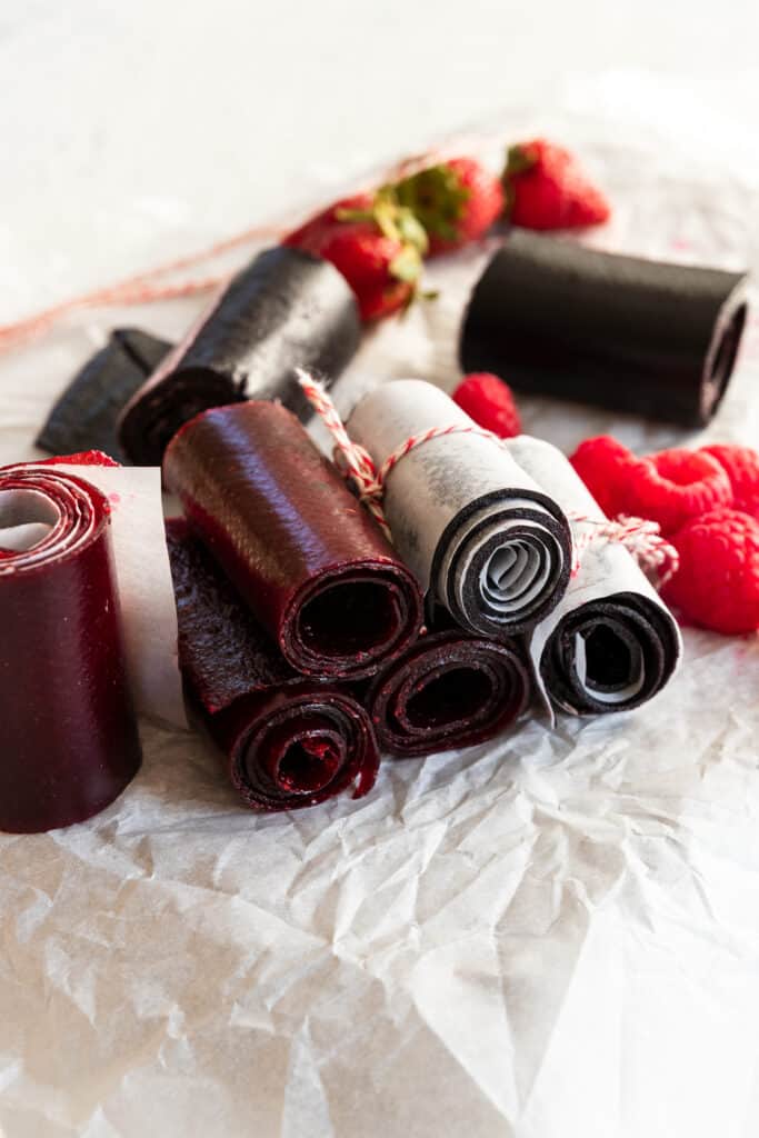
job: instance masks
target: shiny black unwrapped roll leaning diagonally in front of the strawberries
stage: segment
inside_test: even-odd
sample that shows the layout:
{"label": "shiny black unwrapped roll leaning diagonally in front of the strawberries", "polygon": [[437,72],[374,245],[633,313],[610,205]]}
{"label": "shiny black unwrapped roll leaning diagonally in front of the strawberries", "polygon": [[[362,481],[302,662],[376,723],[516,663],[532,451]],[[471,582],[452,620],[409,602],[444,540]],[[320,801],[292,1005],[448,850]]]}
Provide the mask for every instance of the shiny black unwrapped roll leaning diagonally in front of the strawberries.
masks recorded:
{"label": "shiny black unwrapped roll leaning diagonally in front of the strawberries", "polygon": [[310,407],[292,369],[333,379],[360,339],[356,302],[337,269],[299,249],[266,249],[130,401],[122,446],[138,464],[160,463],[168,440],[198,412],[248,398],[280,399],[305,418]]}

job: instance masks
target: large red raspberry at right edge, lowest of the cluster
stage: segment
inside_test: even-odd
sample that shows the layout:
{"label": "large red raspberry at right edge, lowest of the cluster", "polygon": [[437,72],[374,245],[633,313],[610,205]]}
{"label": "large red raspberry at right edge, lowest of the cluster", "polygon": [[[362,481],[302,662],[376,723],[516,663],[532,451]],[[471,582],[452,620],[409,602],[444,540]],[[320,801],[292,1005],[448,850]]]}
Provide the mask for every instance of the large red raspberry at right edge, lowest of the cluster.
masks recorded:
{"label": "large red raspberry at right edge, lowest of the cluster", "polygon": [[693,624],[717,633],[759,628],[759,522],[718,506],[671,538],[680,567],[663,596]]}

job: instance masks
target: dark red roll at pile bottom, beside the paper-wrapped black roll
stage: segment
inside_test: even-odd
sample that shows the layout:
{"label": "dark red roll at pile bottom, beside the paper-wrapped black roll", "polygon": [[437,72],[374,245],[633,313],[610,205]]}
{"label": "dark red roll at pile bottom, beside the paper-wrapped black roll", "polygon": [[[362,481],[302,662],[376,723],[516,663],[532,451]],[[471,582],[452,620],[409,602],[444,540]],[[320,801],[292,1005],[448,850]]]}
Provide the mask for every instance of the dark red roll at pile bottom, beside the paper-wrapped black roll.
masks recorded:
{"label": "dark red roll at pile bottom, beside the paper-wrapped black roll", "polygon": [[522,714],[531,688],[517,644],[447,628],[395,659],[363,700],[380,749],[405,758],[492,739]]}

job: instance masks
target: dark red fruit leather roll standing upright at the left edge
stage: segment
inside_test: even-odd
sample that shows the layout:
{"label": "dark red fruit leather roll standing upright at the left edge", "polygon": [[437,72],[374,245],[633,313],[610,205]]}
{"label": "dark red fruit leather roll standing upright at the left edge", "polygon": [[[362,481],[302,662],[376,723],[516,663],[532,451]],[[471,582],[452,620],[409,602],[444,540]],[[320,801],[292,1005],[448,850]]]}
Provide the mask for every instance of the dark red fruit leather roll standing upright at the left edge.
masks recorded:
{"label": "dark red fruit leather roll standing upright at the left edge", "polygon": [[0,470],[0,828],[108,806],[140,766],[106,497],[83,478]]}

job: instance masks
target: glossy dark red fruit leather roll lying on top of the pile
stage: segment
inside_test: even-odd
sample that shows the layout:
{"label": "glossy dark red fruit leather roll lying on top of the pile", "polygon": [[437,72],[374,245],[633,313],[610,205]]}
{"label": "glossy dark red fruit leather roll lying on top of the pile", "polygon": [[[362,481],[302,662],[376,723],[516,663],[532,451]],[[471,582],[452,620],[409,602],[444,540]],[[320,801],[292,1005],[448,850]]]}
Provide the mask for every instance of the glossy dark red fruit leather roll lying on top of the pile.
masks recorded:
{"label": "glossy dark red fruit leather roll lying on top of the pile", "polygon": [[204,412],[173,439],[164,479],[298,671],[371,675],[416,637],[413,574],[286,407]]}

